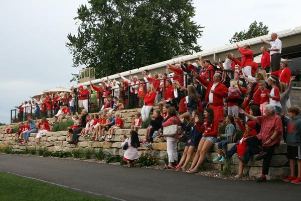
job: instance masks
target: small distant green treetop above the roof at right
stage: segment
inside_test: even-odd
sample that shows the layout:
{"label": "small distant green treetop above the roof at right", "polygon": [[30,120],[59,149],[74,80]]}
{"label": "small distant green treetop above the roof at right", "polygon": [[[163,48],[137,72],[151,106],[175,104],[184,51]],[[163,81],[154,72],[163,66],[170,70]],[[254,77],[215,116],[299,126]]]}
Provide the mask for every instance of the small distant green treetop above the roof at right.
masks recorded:
{"label": "small distant green treetop above the roof at right", "polygon": [[252,24],[249,26],[249,30],[246,32],[245,30],[235,33],[233,37],[230,39],[230,43],[236,43],[239,41],[247,40],[250,38],[255,38],[258,36],[263,36],[268,34],[268,27],[266,25],[263,26],[262,22],[259,22],[257,24],[256,21],[254,21]]}

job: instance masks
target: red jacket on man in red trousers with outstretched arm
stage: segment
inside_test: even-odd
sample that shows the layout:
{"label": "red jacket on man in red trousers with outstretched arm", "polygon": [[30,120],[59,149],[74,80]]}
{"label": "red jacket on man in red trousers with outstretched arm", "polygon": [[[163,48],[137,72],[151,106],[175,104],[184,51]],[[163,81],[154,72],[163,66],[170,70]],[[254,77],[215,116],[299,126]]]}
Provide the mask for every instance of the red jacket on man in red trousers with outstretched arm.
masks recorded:
{"label": "red jacket on man in red trousers with outstretched arm", "polygon": [[[206,96],[205,96],[205,103],[207,104],[209,101],[209,92],[214,82],[207,81],[202,76],[197,76],[197,79],[200,80],[200,82],[207,87]],[[212,105],[223,106],[224,105],[223,98],[227,97],[227,93],[228,93],[228,88],[224,84],[219,82],[218,85],[214,88]]]}

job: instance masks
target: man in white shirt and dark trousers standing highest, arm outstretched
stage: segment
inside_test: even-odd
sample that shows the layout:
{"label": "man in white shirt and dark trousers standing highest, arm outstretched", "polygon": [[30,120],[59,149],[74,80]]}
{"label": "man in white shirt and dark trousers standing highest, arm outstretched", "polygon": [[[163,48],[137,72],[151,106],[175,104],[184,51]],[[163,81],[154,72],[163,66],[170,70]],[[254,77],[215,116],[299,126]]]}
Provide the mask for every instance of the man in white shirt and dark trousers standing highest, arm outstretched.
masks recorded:
{"label": "man in white shirt and dark trousers standing highest, arm outstretched", "polygon": [[272,41],[265,41],[261,39],[261,42],[271,45],[271,48],[268,48],[267,50],[270,51],[271,55],[271,72],[274,72],[280,68],[282,42],[278,39],[278,35],[276,33],[271,34],[271,39]]}

